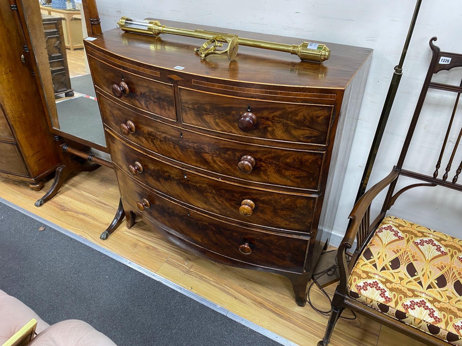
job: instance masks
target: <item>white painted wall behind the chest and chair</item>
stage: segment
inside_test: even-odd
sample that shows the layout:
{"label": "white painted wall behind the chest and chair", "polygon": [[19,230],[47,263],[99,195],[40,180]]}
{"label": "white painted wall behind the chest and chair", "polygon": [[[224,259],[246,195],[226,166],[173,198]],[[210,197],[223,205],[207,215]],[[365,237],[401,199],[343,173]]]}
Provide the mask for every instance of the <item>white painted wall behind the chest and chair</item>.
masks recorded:
{"label": "white painted wall behind the chest and chair", "polygon": [[[128,15],[134,18],[164,18],[199,25],[208,24],[300,37],[307,41],[336,42],[373,48],[372,65],[359,114],[352,155],[335,217],[333,233],[336,236],[331,239],[332,245],[339,244],[346,230],[347,216],[353,207],[393,67],[401,55],[415,1],[97,0],[97,6],[103,30],[114,28],[121,16]],[[443,51],[462,53],[460,0],[423,1],[404,63],[398,95],[369,186],[385,177],[397,161],[428,69],[431,58],[428,41],[432,36],[438,36],[437,44]],[[438,79],[444,83],[458,85],[462,78],[462,69],[455,74],[456,77],[448,78],[447,72],[440,72]],[[433,173],[455,97],[454,93],[438,90],[429,92],[405,168],[427,174]],[[460,129],[461,126],[462,106],[457,112],[453,128]],[[458,131],[451,133],[450,143],[456,141],[456,132]],[[452,145],[448,149],[452,150]],[[461,159],[462,150],[459,147],[453,166],[457,167]],[[443,172],[446,162],[444,161],[442,167]],[[410,179],[402,178],[400,186],[406,181]],[[383,196],[379,196],[379,199],[383,201]],[[376,204],[373,207],[377,211],[381,204]],[[440,187],[416,188],[402,195],[390,214],[462,237],[462,194],[456,191]]]}

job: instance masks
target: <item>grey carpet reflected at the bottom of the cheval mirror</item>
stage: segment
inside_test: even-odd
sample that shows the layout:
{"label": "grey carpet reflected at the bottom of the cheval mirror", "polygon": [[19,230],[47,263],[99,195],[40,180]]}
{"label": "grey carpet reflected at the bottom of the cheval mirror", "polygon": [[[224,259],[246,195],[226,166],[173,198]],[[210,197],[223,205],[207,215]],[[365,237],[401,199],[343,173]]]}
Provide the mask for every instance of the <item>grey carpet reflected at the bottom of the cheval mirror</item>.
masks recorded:
{"label": "grey carpet reflected at the bottom of the cheval mirror", "polygon": [[106,146],[98,102],[76,97],[56,103],[60,130],[92,143]]}

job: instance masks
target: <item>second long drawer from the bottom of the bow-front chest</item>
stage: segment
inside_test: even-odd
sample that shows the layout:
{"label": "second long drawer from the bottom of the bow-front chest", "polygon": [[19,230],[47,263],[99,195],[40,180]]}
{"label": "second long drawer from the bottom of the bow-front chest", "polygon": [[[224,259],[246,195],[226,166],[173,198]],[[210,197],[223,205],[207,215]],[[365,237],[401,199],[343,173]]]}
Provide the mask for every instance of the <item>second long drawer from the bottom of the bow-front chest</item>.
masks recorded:
{"label": "second long drawer from the bottom of the bow-front chest", "polygon": [[316,195],[270,191],[213,179],[148,156],[112,135],[107,139],[116,166],[169,197],[256,227],[310,232]]}

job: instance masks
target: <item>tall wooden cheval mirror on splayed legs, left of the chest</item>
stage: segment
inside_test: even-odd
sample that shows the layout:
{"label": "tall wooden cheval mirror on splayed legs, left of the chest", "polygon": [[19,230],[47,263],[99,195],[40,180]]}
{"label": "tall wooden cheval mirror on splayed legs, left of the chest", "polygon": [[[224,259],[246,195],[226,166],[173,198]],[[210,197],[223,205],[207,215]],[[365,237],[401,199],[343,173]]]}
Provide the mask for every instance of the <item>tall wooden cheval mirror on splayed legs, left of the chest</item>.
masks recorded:
{"label": "tall wooden cheval mirror on splayed legs, left of the chest", "polygon": [[[30,60],[49,129],[60,146],[62,164],[50,190],[36,202],[40,207],[73,171],[113,167],[96,156],[109,151],[83,45],[85,37],[100,33],[101,27],[95,0],[9,1],[26,36],[22,59]],[[100,152],[89,154],[90,148]]]}

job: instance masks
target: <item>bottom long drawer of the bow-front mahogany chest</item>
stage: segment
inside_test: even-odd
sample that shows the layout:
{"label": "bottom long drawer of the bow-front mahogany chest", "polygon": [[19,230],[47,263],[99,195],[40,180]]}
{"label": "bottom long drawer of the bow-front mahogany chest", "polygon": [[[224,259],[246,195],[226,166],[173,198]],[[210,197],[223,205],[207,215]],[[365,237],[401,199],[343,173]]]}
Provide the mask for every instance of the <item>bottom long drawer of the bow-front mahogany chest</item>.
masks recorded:
{"label": "bottom long drawer of the bow-front mahogany chest", "polygon": [[[218,221],[171,202],[138,185],[119,170],[116,170],[116,174],[122,198],[135,211],[168,232],[238,261],[268,268],[303,272],[308,239],[260,232]],[[141,202],[145,205],[141,207],[143,211],[137,207],[137,203]]]}

